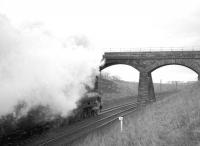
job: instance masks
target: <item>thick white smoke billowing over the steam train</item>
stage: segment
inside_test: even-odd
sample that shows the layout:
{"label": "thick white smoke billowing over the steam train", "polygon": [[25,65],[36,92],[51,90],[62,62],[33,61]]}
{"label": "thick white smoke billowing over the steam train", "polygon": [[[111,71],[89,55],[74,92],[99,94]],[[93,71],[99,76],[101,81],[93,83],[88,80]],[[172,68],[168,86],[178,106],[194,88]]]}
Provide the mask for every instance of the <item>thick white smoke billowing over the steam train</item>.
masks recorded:
{"label": "thick white smoke billowing over the steam train", "polygon": [[89,46],[85,37],[61,42],[38,25],[22,31],[0,16],[0,116],[19,102],[24,114],[42,105],[67,116],[98,72],[101,55]]}

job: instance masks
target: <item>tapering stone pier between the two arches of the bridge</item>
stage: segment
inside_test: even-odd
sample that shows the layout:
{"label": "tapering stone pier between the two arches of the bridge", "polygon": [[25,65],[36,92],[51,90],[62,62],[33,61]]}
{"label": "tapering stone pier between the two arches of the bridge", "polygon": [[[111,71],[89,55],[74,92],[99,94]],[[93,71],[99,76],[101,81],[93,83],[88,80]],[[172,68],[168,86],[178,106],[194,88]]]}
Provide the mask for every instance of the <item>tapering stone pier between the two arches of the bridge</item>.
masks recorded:
{"label": "tapering stone pier between the two arches of the bridge", "polygon": [[141,104],[156,100],[151,73],[140,72],[137,100]]}

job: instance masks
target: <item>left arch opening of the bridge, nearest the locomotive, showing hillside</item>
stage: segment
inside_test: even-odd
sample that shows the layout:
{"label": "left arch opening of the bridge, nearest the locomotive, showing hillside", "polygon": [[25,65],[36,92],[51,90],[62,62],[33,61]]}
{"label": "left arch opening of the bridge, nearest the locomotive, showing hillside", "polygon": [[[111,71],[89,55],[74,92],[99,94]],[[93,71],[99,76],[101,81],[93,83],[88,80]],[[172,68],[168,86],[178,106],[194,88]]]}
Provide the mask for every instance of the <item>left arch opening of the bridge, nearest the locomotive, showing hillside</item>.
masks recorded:
{"label": "left arch opening of the bridge, nearest the locomotive, showing hillside", "polygon": [[130,65],[106,67],[101,71],[100,78],[99,89],[104,101],[120,98],[133,100],[133,96],[138,95],[139,71]]}

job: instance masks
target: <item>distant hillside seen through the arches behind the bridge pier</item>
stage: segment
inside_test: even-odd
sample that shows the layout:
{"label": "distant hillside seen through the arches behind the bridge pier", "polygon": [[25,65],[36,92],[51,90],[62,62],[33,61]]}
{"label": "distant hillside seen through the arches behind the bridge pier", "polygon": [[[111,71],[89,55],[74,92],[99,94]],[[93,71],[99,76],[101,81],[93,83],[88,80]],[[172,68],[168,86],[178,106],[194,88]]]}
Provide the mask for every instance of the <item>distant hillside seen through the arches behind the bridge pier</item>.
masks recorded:
{"label": "distant hillside seen through the arches behind the bridge pier", "polygon": [[[163,93],[168,91],[180,90],[186,84],[154,84],[155,93]],[[104,101],[117,100],[121,98],[136,97],[138,95],[138,83],[126,82],[122,80],[101,79],[99,83],[99,91],[103,95]]]}

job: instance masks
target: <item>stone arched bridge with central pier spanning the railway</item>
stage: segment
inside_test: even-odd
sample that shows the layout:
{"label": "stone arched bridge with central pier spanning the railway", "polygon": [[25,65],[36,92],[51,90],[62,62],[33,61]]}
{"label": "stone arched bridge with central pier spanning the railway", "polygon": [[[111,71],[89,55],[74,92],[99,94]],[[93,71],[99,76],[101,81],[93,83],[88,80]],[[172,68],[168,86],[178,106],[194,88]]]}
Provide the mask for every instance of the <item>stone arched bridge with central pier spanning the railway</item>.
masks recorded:
{"label": "stone arched bridge with central pier spanning the railway", "polygon": [[163,51],[163,52],[105,52],[105,63],[100,67],[125,64],[140,72],[138,102],[155,101],[151,72],[165,65],[182,65],[198,74],[200,80],[200,51]]}

